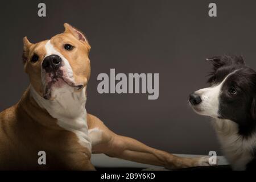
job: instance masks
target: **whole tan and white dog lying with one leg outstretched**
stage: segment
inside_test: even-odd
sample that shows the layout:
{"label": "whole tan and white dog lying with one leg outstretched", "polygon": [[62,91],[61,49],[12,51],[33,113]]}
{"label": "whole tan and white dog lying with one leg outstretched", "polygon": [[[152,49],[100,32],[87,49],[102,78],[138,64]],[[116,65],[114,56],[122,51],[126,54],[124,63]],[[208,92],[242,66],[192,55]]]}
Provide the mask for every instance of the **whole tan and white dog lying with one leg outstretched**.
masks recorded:
{"label": "whole tan and white dog lying with one leg outstretched", "polygon": [[[69,24],[65,31],[32,44],[23,39],[30,86],[20,101],[0,113],[0,169],[93,170],[92,153],[169,169],[208,166],[208,158],[180,158],[110,131],[86,113],[90,46]],[[38,152],[46,152],[46,165]]]}

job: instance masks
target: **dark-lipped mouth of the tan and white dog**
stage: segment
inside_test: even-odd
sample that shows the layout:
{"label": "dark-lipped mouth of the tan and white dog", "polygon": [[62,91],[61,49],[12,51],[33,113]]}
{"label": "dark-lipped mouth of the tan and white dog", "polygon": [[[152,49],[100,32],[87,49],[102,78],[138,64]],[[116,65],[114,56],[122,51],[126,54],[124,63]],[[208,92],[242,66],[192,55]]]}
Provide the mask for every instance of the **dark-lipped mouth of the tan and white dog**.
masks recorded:
{"label": "dark-lipped mouth of the tan and white dog", "polygon": [[50,80],[46,82],[46,86],[44,86],[44,93],[43,93],[43,98],[46,100],[51,100],[52,95],[52,87],[55,86],[56,88],[61,88],[63,85],[68,85],[71,88],[74,88],[76,91],[81,90],[84,88],[84,85],[82,84],[75,84],[75,82],[71,81],[68,78],[65,78],[63,76],[52,76]]}

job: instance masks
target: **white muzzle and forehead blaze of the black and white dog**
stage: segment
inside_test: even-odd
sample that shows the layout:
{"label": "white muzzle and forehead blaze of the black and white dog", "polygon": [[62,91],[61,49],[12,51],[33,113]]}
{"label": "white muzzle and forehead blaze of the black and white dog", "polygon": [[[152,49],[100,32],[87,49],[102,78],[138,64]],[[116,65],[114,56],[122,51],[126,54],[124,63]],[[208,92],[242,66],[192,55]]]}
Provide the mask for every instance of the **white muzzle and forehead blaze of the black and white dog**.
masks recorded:
{"label": "white muzzle and forehead blaze of the black and white dog", "polygon": [[200,96],[202,100],[199,105],[192,106],[197,114],[207,115],[213,118],[218,118],[220,116],[218,113],[218,107],[220,105],[220,94],[222,85],[224,84],[226,79],[236,71],[229,73],[229,75],[226,76],[220,84],[200,89],[195,92],[195,94]]}

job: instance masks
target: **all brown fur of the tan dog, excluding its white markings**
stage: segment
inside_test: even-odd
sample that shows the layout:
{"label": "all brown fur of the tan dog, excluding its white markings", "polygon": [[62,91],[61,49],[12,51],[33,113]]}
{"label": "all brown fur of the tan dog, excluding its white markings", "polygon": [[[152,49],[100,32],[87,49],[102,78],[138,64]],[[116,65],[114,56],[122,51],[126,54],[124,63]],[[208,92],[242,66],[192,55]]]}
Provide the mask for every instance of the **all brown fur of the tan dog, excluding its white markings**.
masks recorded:
{"label": "all brown fur of the tan dog, excluding its white markings", "polygon": [[[85,36],[65,23],[65,31],[51,38],[51,43],[69,60],[76,83],[86,87],[90,77],[90,46]],[[47,40],[32,44],[23,39],[24,71],[28,73],[33,88],[43,96],[41,64],[46,56]],[[64,44],[75,49],[68,52]],[[39,61],[32,63],[36,53]],[[76,134],[57,125],[57,120],[42,109],[30,95],[30,87],[18,104],[0,113],[0,169],[94,169],[90,151],[79,144]],[[192,167],[200,164],[199,158],[180,158],[156,150],[135,139],[110,131],[100,119],[88,114],[89,129],[102,131],[100,142],[92,142],[93,153],[104,153],[135,162],[154,164],[166,168]],[[46,151],[47,165],[38,164],[38,152]]]}

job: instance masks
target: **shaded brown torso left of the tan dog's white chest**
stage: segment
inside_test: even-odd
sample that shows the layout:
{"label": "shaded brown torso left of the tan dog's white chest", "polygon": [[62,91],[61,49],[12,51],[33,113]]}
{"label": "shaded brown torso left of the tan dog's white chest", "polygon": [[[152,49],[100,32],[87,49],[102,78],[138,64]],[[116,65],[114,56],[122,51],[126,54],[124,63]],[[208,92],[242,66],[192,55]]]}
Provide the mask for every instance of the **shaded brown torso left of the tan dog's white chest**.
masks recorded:
{"label": "shaded brown torso left of the tan dog's white chest", "polygon": [[[0,113],[0,121],[0,169],[94,169],[76,135],[58,126],[28,91]],[[47,165],[38,164],[41,150]]]}

